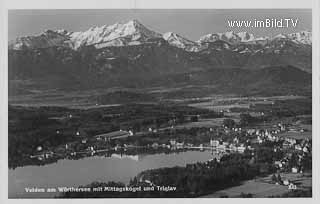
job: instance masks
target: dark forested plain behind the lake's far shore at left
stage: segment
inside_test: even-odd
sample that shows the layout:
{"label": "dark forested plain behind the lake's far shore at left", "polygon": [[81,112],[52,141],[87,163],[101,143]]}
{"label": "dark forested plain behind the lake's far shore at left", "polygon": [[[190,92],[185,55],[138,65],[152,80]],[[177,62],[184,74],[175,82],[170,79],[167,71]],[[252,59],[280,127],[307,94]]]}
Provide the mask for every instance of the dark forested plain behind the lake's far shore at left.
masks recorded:
{"label": "dark forested plain behind the lake's far shore at left", "polygon": [[221,117],[220,113],[174,104],[127,104],[115,107],[70,109],[63,107],[9,106],[9,167],[29,163],[29,155],[101,133],[147,131],[187,121],[189,116]]}

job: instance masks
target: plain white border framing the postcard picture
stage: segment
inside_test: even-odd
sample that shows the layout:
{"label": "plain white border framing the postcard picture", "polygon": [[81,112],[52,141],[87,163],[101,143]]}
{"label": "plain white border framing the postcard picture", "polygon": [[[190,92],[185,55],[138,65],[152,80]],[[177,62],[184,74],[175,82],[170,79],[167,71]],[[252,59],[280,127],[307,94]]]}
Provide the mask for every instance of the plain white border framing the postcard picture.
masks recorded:
{"label": "plain white border framing the postcard picture", "polygon": [[[269,203],[290,202],[294,203],[318,203],[320,196],[319,158],[320,158],[320,97],[319,97],[319,0],[0,0],[0,131],[1,131],[1,203],[127,203],[137,202],[162,204],[162,203]],[[192,199],[8,199],[8,10],[9,9],[290,9],[290,8],[312,8],[312,91],[313,91],[313,197],[312,198],[272,198],[269,199],[223,199],[216,198],[192,198]]]}

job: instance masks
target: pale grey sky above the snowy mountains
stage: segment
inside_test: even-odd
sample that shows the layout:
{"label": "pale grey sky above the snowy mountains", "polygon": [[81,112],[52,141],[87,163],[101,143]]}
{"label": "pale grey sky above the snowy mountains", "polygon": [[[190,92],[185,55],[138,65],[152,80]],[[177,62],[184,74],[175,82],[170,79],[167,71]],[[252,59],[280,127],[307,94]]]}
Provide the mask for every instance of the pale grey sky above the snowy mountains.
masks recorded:
{"label": "pale grey sky above the snowy mountains", "polygon": [[[312,30],[311,9],[108,9],[108,10],[9,10],[8,40],[39,34],[47,29],[85,31],[136,19],[159,33],[175,32],[190,40],[209,33],[246,31],[256,37]],[[298,19],[289,28],[230,28],[228,20]]]}

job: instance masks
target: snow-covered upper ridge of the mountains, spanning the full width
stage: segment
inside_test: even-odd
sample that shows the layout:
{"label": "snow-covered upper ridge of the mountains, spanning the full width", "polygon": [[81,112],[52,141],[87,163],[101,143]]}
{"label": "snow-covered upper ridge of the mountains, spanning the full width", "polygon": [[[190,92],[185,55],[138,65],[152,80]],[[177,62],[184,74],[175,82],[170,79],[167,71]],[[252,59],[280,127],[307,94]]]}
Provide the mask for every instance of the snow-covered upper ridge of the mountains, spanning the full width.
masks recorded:
{"label": "snow-covered upper ridge of the mountains, spanning the full width", "polygon": [[[171,34],[171,37],[168,36],[169,33]],[[312,44],[312,33],[309,31],[301,31],[287,35],[279,34],[273,38],[255,38],[253,34],[248,32],[235,33],[233,31],[228,31],[225,33],[206,34],[201,36],[198,41],[191,41],[173,32],[160,34],[148,29],[138,20],[130,20],[126,23],[91,27],[83,32],[46,30],[39,35],[17,38],[14,42],[10,43],[9,49],[19,50],[26,48],[35,49],[50,46],[66,46],[77,50],[81,46],[90,45],[94,45],[96,48],[137,45],[147,43],[148,40],[157,38],[163,38],[167,40],[169,44],[191,52],[198,52],[206,49],[206,43],[212,43],[218,40],[222,40],[230,44],[266,44],[273,40],[284,38],[297,44]]]}

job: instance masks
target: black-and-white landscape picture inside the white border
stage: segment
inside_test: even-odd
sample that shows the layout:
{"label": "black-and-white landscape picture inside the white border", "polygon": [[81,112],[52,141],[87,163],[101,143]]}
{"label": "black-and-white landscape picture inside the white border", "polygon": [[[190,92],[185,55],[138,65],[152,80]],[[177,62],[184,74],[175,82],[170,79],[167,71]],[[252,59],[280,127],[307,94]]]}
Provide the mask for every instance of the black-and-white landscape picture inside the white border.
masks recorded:
{"label": "black-and-white landscape picture inside the white border", "polygon": [[9,199],[312,198],[312,9],[7,20]]}

